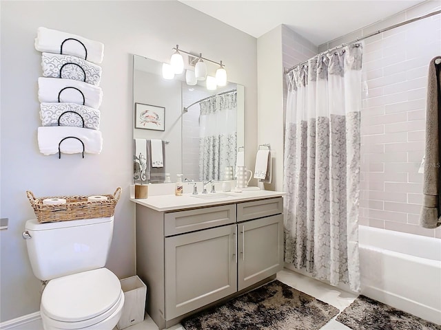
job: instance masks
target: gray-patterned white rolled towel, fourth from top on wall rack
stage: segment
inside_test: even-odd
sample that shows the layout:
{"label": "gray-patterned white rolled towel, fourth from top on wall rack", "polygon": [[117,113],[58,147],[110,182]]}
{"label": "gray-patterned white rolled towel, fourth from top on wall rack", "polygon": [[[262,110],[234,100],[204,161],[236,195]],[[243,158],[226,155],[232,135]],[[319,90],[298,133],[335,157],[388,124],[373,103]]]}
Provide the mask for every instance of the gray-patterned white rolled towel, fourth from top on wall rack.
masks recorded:
{"label": "gray-patterned white rolled towel, fourth from top on wall rack", "polygon": [[[74,111],[66,112],[66,111]],[[78,114],[76,114],[78,113]],[[83,118],[83,120],[81,120]],[[99,129],[99,110],[76,103],[40,104],[40,119],[42,126],[76,126],[86,129]]]}

